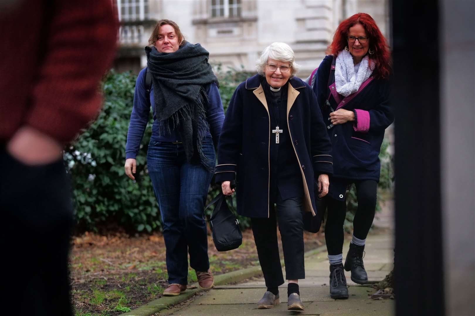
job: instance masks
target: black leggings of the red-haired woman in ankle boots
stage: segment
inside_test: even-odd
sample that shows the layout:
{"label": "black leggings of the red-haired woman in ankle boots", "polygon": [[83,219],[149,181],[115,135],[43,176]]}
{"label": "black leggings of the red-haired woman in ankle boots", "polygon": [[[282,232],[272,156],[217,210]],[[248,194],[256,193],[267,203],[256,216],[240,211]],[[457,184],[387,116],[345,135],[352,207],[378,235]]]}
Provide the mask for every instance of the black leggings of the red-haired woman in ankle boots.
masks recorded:
{"label": "black leggings of the red-haired woman in ankle boots", "polygon": [[[358,209],[353,219],[353,236],[366,239],[373,224],[376,209],[376,187],[374,180],[354,181],[358,199]],[[346,217],[346,201],[326,197],[327,219],[325,223],[325,241],[328,254],[343,252],[343,224]]]}

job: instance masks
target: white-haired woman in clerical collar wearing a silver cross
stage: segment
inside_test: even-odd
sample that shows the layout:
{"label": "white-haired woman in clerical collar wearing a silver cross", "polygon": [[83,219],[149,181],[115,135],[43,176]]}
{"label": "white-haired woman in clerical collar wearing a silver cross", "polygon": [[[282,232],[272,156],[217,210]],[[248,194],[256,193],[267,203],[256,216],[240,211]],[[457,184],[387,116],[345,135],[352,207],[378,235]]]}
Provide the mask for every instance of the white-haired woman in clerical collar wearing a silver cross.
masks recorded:
{"label": "white-haired woman in clerical collar wearing a silver cross", "polygon": [[[225,195],[236,190],[237,212],[251,217],[267,291],[258,308],[279,302],[284,283],[278,222],[288,280],[287,308],[303,310],[298,280],[305,278],[303,212],[328,192],[332,145],[317,99],[295,77],[299,65],[284,43],[266,47],[257,74],[242,82],[229,103],[219,136],[215,181]],[[236,188],[231,188],[236,181]]]}

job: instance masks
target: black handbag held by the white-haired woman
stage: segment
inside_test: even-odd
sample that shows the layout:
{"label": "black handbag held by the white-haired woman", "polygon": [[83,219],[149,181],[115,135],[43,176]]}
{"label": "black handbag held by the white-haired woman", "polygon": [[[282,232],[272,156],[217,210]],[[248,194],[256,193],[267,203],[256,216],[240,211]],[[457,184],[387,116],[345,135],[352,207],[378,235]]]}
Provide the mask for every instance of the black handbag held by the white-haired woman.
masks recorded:
{"label": "black handbag held by the white-haired woman", "polygon": [[[242,244],[242,233],[239,229],[239,222],[234,213],[228,208],[226,199],[229,199],[232,207],[232,197],[219,193],[203,210],[203,219],[209,222],[211,237],[218,251],[236,249]],[[213,214],[209,217],[209,220],[207,220],[205,210],[215,203],[216,206],[213,210]]]}

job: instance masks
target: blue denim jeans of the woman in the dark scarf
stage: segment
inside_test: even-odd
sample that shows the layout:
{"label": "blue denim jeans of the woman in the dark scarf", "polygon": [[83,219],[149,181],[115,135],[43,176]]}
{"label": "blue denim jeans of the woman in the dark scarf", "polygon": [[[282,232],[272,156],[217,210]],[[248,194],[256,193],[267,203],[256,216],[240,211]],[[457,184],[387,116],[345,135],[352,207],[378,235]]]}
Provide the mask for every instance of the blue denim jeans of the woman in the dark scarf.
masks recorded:
{"label": "blue denim jeans of the woman in the dark scarf", "polygon": [[[214,164],[210,137],[203,140],[203,153]],[[188,253],[191,268],[209,269],[202,213],[213,173],[202,165],[188,163],[182,144],[168,142],[149,144],[147,167],[163,222],[168,283],[188,284]]]}

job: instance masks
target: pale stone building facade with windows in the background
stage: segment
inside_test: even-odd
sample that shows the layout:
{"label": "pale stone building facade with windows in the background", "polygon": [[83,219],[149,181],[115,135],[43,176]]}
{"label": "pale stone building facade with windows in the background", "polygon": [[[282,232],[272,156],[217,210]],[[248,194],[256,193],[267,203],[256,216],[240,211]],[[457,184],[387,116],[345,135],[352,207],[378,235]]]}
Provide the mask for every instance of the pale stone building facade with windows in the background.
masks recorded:
{"label": "pale stone building facade with windows in the background", "polygon": [[146,66],[143,47],[161,18],[175,21],[187,40],[204,46],[211,63],[250,72],[267,45],[285,42],[302,65],[298,76],[306,77],[322,61],[338,24],[358,12],[369,13],[390,41],[388,0],[114,1],[121,21],[118,71]]}

